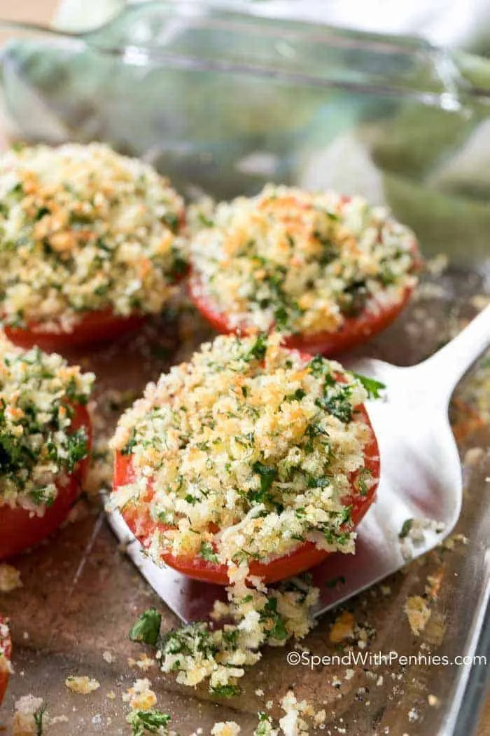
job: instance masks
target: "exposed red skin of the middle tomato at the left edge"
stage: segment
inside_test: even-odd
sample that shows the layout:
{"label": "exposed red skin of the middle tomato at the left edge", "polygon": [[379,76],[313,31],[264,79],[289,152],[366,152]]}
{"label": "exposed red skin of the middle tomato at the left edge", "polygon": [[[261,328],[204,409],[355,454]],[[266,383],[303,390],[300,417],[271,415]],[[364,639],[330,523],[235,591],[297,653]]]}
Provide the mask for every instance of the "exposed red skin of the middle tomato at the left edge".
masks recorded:
{"label": "exposed red skin of the middle tomato at the left edge", "polygon": [[[87,409],[76,405],[75,415],[71,423],[73,431],[85,427],[88,437],[88,448],[92,444],[92,429]],[[57,484],[57,497],[52,506],[46,508],[43,516],[30,515],[20,506],[0,506],[0,560],[37,545],[49,536],[70,513],[73,503],[82,491],[82,480],[87,470],[88,457],[79,462],[66,485]]]}

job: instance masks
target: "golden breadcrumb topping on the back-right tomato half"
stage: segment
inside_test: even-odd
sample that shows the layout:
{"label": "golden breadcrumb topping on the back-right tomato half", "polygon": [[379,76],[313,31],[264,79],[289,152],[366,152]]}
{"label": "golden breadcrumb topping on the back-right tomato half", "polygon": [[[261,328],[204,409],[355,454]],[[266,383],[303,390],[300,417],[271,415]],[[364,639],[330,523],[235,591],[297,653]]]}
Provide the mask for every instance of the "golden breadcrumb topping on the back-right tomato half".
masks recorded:
{"label": "golden breadcrumb topping on the back-right tomato half", "polygon": [[417,282],[414,233],[363,197],[267,185],[200,221],[193,289],[234,329],[334,333],[364,308],[400,302]]}

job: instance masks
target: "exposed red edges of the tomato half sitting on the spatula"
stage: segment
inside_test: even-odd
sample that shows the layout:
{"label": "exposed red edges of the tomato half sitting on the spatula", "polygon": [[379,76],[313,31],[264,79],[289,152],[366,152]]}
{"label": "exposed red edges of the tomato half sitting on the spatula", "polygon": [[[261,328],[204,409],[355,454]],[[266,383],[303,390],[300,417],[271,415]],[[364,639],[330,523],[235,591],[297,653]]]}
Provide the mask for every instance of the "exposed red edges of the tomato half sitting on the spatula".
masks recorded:
{"label": "exposed red edges of the tomato half sitting on the spatula", "polygon": [[[376,441],[370,418],[364,406],[357,407],[356,412],[358,417],[370,429],[370,440],[364,447],[364,468],[361,471],[352,473],[350,476],[351,492],[344,499],[344,503],[345,506],[350,506],[350,517],[352,521],[349,526],[345,526],[345,531],[352,531],[356,528],[363,519],[364,514],[370,508],[375,498],[380,475],[378,442]],[[369,473],[371,478],[370,487],[365,491],[362,490],[361,473]],[[117,452],[115,455],[114,489],[129,484],[133,480],[134,473],[131,455],[123,455]],[[138,509],[134,505],[129,505],[123,511],[126,524],[143,546],[147,547],[156,529],[165,531],[165,529],[170,528],[154,521],[148,514],[148,507],[152,495],[151,484],[148,484],[147,493],[145,497],[140,498],[142,503],[139,504]],[[212,529],[211,531],[217,531],[217,529]],[[319,565],[330,554],[328,551],[317,548],[313,542],[304,542],[298,545],[291,553],[271,559],[270,562],[251,561],[249,570],[251,575],[259,576],[263,578],[264,583],[269,584],[303,573],[305,570],[314,567],[314,565]],[[170,553],[164,553],[162,554],[162,560],[170,567],[173,567],[174,570],[179,570],[179,573],[195,580],[219,585],[228,585],[229,583],[228,568],[226,565],[209,562],[209,560],[205,560],[201,556],[177,557]]]}

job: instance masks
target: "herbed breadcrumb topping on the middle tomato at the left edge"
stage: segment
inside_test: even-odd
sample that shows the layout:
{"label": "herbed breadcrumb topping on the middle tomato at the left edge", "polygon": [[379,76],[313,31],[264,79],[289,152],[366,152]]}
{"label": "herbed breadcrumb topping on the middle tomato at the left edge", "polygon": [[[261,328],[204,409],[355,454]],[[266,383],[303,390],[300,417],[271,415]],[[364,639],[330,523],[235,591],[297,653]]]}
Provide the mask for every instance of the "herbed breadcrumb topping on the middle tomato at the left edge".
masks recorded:
{"label": "herbed breadcrumb topping on the middle tomato at the left edge", "polygon": [[71,431],[94,376],[55,353],[21,350],[0,333],[0,508],[42,515],[87,456],[85,428]]}

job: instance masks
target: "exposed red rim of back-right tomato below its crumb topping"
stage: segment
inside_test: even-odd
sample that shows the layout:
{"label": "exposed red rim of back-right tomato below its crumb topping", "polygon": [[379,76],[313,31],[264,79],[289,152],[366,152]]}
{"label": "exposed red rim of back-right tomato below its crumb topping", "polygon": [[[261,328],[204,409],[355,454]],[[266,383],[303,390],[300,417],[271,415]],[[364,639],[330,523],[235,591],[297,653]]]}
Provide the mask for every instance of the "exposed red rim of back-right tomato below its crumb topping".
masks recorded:
{"label": "exposed red rim of back-right tomato below its crumb topping", "polygon": [[[387,328],[400,314],[411,297],[413,287],[406,287],[400,300],[389,305],[381,305],[372,299],[364,310],[355,317],[345,317],[342,327],[337,332],[319,332],[314,335],[291,335],[284,339],[284,347],[291,347],[316,355],[337,355],[350,350]],[[220,333],[240,332],[247,334],[247,328],[237,330],[231,327],[226,314],[221,314],[211,300],[203,294],[198,280],[189,280],[190,298],[212,327]]]}

